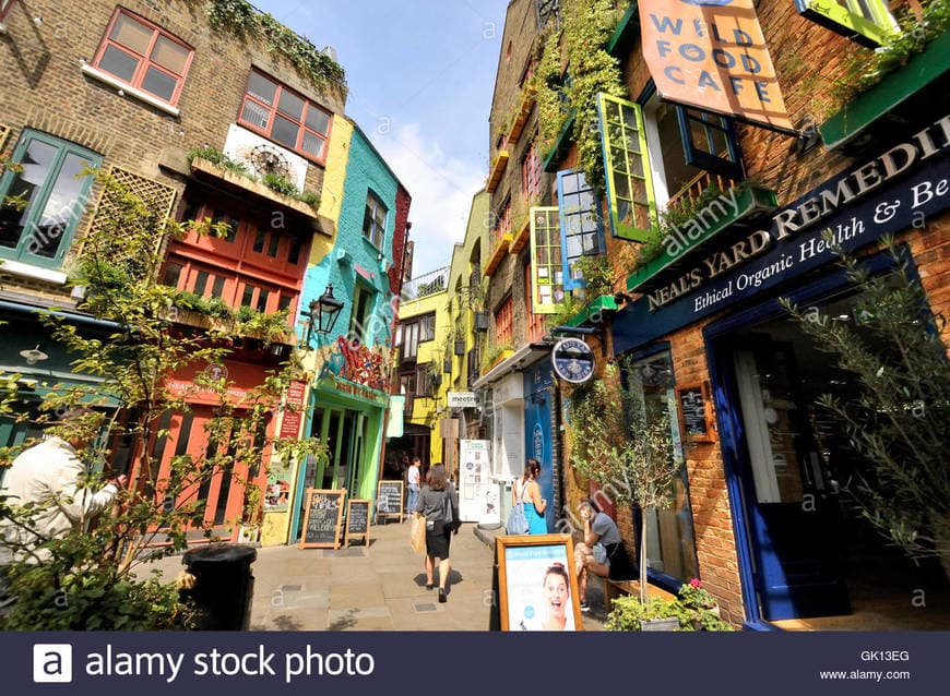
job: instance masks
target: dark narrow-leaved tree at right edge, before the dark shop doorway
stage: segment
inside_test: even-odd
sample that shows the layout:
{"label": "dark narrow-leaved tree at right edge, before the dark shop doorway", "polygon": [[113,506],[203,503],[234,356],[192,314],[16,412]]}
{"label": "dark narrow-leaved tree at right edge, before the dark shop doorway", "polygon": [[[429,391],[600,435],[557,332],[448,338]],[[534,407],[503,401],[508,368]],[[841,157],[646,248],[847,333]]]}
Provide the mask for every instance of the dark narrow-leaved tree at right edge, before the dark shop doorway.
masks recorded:
{"label": "dark narrow-leaved tree at right edge, before the dark shop doorway", "polygon": [[[830,238],[829,238],[830,239]],[[950,559],[950,361],[943,316],[933,316],[893,239],[893,271],[871,275],[839,248],[859,291],[856,324],[785,301],[815,345],[854,375],[858,391],[818,404],[833,413],[864,465],[845,484],[860,515],[907,556]]]}

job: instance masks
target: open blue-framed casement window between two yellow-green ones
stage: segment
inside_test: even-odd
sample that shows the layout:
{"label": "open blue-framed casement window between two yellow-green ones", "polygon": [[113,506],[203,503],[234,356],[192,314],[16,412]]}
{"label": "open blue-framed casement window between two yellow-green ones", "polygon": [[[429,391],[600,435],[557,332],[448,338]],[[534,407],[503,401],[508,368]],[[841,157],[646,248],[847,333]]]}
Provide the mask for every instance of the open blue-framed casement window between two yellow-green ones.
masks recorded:
{"label": "open blue-framed casement window between two yellow-green ones", "polygon": [[583,172],[573,169],[558,172],[558,212],[565,290],[575,290],[585,286],[583,273],[575,267],[578,260],[606,252],[601,202]]}

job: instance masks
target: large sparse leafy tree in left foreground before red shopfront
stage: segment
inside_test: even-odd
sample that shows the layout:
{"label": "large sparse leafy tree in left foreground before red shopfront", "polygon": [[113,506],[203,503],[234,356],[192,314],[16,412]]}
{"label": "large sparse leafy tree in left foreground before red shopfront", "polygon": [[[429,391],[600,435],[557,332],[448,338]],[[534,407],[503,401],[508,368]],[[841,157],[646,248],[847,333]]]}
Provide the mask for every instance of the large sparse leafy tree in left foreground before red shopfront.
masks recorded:
{"label": "large sparse leafy tree in left foreground before red shopfront", "polygon": [[[78,309],[114,328],[106,336],[92,336],[51,313],[46,315],[52,338],[75,357],[73,370],[99,382],[88,389],[56,389],[40,409],[55,413],[80,404],[105,406],[118,399],[120,407],[105,423],[95,423],[104,433],[99,444],[81,456],[87,465],[87,485],[97,489],[109,476],[110,446],[122,442],[133,453],[133,480],[120,493],[112,514],[104,514],[92,528],[84,524],[82,531],[41,539],[38,549],[10,548],[7,543],[7,550],[21,560],[8,567],[17,601],[0,617],[0,627],[189,627],[193,612],[179,601],[175,584],[143,577],[143,564],[182,550],[190,530],[201,530],[213,539],[213,525],[204,519],[201,496],[214,477],[230,478],[231,490],[245,492],[241,518],[228,524],[256,524],[261,515],[260,490],[250,479],[260,472],[268,455],[322,456],[325,446],[312,440],[266,435],[271,418],[282,408],[286,387],[299,373],[299,365],[290,360],[268,372],[239,405],[227,396],[233,385],[227,379],[199,376],[197,386],[205,395],[214,395],[214,415],[205,427],[207,446],[199,455],[174,457],[167,473],[159,470],[158,448],[169,434],[168,416],[190,410],[185,398],[169,391],[169,375],[219,364],[238,339],[253,337],[264,348],[271,341],[293,343],[287,316],[285,312],[254,314],[247,321],[231,316],[202,329],[176,323],[179,303],[188,307],[189,298],[154,281],[167,243],[190,229],[199,233],[219,230],[207,223],[163,219],[119,181],[103,172],[90,173],[97,177],[108,205],[99,206],[71,280],[85,292]],[[13,375],[7,379],[15,388]],[[13,409],[9,392],[4,405],[8,412]],[[75,434],[70,428],[80,427],[74,424],[57,434],[69,439]],[[4,459],[14,455],[4,453]],[[97,473],[103,463],[105,468]],[[241,465],[251,476],[237,473]],[[11,507],[13,502],[0,500],[0,518],[31,528],[36,511]]]}

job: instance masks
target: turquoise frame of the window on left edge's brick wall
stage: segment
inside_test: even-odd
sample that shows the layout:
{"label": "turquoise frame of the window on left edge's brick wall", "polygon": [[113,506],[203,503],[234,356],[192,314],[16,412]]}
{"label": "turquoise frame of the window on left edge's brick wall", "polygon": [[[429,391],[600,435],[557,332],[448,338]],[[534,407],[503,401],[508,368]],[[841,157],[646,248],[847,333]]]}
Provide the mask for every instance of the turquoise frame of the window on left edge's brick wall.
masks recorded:
{"label": "turquoise frame of the window on left edge's brick wall", "polygon": [[[36,227],[37,217],[46,208],[46,204],[48,203],[50,195],[52,195],[51,184],[59,178],[59,172],[62,168],[63,161],[69,155],[75,155],[76,157],[84,159],[88,169],[97,169],[102,165],[103,158],[93,151],[86,149],[85,147],[76,145],[75,143],[55,137],[54,135],[48,135],[47,133],[40,133],[39,131],[27,129],[23,131],[23,134],[20,136],[20,140],[16,143],[16,147],[13,149],[14,163],[20,164],[23,160],[23,156],[26,154],[26,148],[33,141],[39,141],[40,143],[45,143],[50,147],[56,147],[56,157],[52,160],[52,165],[49,167],[49,171],[46,173],[46,178],[44,179],[43,184],[37,187],[38,193],[36,195],[36,199],[32,201],[24,211],[25,226],[23,232],[21,232],[20,241],[14,249],[0,247],[0,257],[8,259],[10,261],[19,261],[29,264],[32,266],[38,266],[43,268],[60,268],[62,266],[63,260],[66,259],[67,252],[69,251],[70,247],[72,247],[73,236],[75,235],[75,230],[79,227],[79,221],[82,215],[76,215],[73,211],[72,217],[70,218],[69,223],[66,226],[66,229],[60,236],[60,242],[56,255],[51,259],[29,253],[28,230]],[[3,178],[0,179],[0,201],[2,201],[3,196],[8,194],[8,192],[10,191],[10,187],[13,184],[15,178],[16,172],[10,169],[3,175]],[[82,187],[80,188],[78,196],[79,201],[88,201],[90,190],[92,189],[94,178],[95,177],[93,177],[92,175],[83,178]]]}

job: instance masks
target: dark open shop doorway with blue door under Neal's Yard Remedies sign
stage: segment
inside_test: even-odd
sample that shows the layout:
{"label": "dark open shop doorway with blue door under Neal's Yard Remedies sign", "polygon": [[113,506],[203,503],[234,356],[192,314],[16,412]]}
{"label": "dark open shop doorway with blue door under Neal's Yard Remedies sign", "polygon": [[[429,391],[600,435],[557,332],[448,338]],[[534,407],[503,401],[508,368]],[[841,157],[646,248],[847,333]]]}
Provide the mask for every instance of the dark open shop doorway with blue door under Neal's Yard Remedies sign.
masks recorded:
{"label": "dark open shop doorway with blue door under Neal's Yard Remedies sign", "polygon": [[[831,321],[855,321],[854,295],[809,304]],[[774,622],[863,616],[872,624],[887,615],[891,628],[914,627],[924,614],[933,620],[933,600],[947,591],[939,564],[915,565],[862,519],[845,489],[863,461],[817,404],[823,394],[854,397],[856,377],[784,314],[734,326],[711,345],[723,454],[741,506],[738,541],[753,586],[750,614]],[[916,616],[922,590],[930,601]]]}

